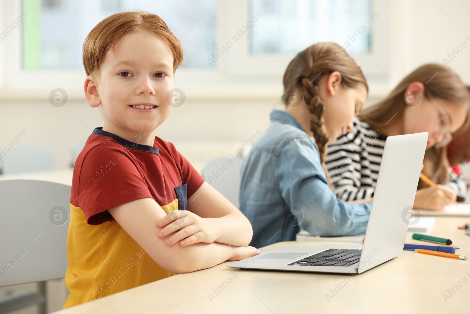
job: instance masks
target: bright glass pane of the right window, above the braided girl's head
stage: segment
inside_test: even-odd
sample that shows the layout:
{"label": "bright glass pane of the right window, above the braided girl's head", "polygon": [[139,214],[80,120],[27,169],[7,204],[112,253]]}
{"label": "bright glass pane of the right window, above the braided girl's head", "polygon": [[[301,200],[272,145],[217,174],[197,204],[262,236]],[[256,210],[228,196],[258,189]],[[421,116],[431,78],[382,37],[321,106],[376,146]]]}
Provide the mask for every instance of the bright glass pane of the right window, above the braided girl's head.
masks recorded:
{"label": "bright glass pane of the right window, above the braided girl's head", "polygon": [[354,40],[348,53],[370,52],[372,23],[357,32],[372,16],[370,0],[251,0],[250,11],[263,12],[251,33],[253,53],[298,53],[315,42],[347,40]]}

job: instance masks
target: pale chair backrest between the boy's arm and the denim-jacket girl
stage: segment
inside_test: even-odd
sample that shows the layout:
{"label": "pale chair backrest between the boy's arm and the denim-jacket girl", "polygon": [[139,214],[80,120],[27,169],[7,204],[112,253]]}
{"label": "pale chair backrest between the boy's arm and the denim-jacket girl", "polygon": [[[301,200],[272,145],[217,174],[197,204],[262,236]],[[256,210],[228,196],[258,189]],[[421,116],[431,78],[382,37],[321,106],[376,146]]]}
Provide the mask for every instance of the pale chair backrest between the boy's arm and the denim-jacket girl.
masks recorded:
{"label": "pale chair backrest between the boy's arm and the denim-jacket girl", "polygon": [[210,185],[225,196],[236,208],[240,208],[240,169],[242,158],[230,156],[215,157],[207,161],[202,176]]}

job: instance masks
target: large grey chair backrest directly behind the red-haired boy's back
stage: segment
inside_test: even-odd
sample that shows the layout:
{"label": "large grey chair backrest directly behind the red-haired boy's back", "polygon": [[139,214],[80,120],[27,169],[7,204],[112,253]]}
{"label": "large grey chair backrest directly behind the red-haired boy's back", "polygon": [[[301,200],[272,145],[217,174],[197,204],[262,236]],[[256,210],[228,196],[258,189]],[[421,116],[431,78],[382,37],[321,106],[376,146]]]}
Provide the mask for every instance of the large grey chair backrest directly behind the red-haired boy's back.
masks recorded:
{"label": "large grey chair backrest directly behind the red-haired boy's back", "polygon": [[0,287],[63,278],[71,186],[0,181]]}

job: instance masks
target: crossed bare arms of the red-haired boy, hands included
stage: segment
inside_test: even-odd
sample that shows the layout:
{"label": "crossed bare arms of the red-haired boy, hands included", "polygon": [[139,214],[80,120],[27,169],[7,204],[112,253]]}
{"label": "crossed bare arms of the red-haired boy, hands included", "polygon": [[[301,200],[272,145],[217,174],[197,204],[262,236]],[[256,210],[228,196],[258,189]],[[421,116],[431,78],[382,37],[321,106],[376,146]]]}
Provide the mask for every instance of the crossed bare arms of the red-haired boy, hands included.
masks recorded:
{"label": "crossed bare arms of the red-haired boy, hands included", "polygon": [[[204,195],[205,192],[207,193]],[[199,197],[201,199],[197,201]],[[175,274],[193,272],[218,265],[227,260],[240,260],[259,253],[258,250],[250,246],[234,246],[222,243],[225,241],[248,244],[251,241],[252,229],[246,217],[207,183],[201,185],[196,193],[188,199],[188,209],[196,210],[201,215],[212,213],[210,216],[217,218],[202,218],[195,215],[195,213],[187,212],[184,217],[178,214],[177,219],[168,221],[166,219],[168,215],[175,215],[175,213],[184,211],[176,211],[166,215],[157,202],[151,198],[131,201],[109,209],[109,212],[158,265]],[[248,228],[243,219],[248,222]],[[166,227],[159,227],[157,225],[159,221],[165,221],[169,224]],[[180,230],[179,232],[182,233],[180,235],[175,231],[166,233],[170,230],[169,226],[176,226],[176,228],[172,227],[171,229]],[[218,242],[193,242],[193,239],[191,240],[191,243],[194,243],[192,245],[168,245],[164,239],[160,238],[161,235],[160,237],[157,236],[165,228],[163,238],[166,237],[166,240],[174,236],[177,237],[176,239],[184,239],[188,235],[191,237],[194,234],[200,234],[199,238],[204,238],[201,241],[210,241],[211,239],[205,239],[205,237],[210,236],[215,237],[214,241],[217,240]],[[189,233],[184,231],[186,228],[189,228]],[[201,228],[208,228],[210,231],[208,233],[197,231]],[[193,231],[196,233],[190,234]],[[186,236],[184,236],[185,233]],[[246,240],[248,235],[249,239]],[[198,241],[197,237],[193,238]]]}

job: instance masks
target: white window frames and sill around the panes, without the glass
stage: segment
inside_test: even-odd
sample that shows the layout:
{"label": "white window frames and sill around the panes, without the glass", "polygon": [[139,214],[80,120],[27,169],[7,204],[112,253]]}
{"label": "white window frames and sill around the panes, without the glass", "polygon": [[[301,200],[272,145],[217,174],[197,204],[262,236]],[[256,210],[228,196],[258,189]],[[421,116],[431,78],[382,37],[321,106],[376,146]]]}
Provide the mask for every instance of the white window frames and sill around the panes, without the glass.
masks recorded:
{"label": "white window frames and sill around the panes, without the glass", "polygon": [[[217,0],[216,51],[221,48],[230,34],[238,32],[251,18],[249,1]],[[1,1],[2,32],[11,23],[7,16],[21,16],[22,1]],[[380,10],[378,9],[380,8]],[[380,23],[374,23],[371,30],[371,52],[352,55],[360,64],[369,83],[390,85],[388,72],[390,64],[392,11],[384,9],[378,0],[372,0],[372,12],[380,13]],[[255,24],[256,27],[256,24]],[[86,73],[83,69],[71,70],[31,70],[22,69],[22,26],[8,35],[0,45],[2,60],[0,65],[0,84],[3,90],[13,94],[25,90],[35,90],[43,95],[55,88],[70,90],[72,95],[82,95]],[[175,74],[175,85],[195,97],[272,97],[273,93],[282,93],[282,75],[285,67],[295,54],[256,54],[249,53],[248,32],[229,52],[223,55],[216,66],[210,68],[180,68]],[[16,55],[16,56],[15,56]],[[380,64],[380,65],[378,65]],[[255,84],[250,82],[252,80]],[[33,93],[34,94],[34,93]],[[210,95],[208,95],[210,94]],[[204,96],[206,95],[206,96]],[[276,95],[276,97],[277,97]],[[10,96],[12,97],[12,96]],[[22,97],[19,94],[19,97]]]}

